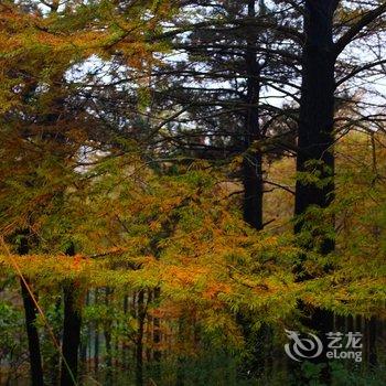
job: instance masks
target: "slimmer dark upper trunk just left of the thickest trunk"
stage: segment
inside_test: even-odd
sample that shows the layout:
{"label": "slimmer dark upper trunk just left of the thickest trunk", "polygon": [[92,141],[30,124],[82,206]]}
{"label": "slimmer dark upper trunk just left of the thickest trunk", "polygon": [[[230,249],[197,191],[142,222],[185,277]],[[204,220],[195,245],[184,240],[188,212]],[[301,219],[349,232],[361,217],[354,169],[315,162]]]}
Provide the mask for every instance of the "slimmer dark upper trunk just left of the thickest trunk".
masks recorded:
{"label": "slimmer dark upper trunk just left of the thickest trunk", "polygon": [[[255,0],[248,2],[248,17],[255,18]],[[244,219],[255,229],[262,229],[262,157],[260,139],[259,95],[260,66],[257,61],[256,36],[248,36],[245,54],[247,75],[247,110],[245,117],[245,154],[243,160]]]}

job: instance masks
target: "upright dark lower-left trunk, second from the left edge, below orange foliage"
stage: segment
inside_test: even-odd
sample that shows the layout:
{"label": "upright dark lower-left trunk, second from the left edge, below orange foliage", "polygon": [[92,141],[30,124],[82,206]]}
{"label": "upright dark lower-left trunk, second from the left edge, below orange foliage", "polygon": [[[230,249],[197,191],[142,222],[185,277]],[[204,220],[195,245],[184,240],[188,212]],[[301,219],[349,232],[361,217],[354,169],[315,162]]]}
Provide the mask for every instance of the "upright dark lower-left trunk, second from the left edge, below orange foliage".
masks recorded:
{"label": "upright dark lower-left trunk, second from the left edge, below orange foliage", "polygon": [[[66,255],[74,256],[74,246],[71,246]],[[63,323],[63,357],[61,372],[61,386],[76,384],[78,350],[81,344],[81,310],[78,304],[79,293],[75,282],[64,286],[64,323]]]}

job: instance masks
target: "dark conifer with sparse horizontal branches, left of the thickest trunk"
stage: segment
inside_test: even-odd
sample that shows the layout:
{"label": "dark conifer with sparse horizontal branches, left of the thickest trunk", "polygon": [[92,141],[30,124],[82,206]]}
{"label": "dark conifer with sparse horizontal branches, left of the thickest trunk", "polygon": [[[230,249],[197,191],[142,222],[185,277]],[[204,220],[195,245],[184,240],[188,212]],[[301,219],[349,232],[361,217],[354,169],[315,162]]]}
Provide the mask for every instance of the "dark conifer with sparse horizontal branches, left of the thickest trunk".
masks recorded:
{"label": "dark conifer with sparse horizontal branches, left of the thickest trunk", "polygon": [[294,86],[298,56],[286,40],[298,43],[300,34],[281,25],[282,18],[290,18],[285,10],[264,1],[183,6],[186,11],[173,20],[175,30],[161,35],[171,39],[176,57],[152,72],[154,84],[162,84],[152,93],[152,106],[178,105],[156,128],[154,141],[186,157],[223,162],[240,157],[245,219],[262,229],[264,158],[286,149],[291,133],[282,118],[293,120],[290,111],[268,103],[266,88],[290,95],[286,88]]}

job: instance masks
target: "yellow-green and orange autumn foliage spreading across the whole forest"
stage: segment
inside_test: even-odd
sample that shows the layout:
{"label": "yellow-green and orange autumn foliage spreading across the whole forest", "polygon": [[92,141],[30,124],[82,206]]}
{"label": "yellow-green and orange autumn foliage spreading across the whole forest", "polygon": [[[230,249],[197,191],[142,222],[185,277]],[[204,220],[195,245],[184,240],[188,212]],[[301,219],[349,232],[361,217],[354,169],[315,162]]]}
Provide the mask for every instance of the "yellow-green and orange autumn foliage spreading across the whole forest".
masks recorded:
{"label": "yellow-green and orange autumn foliage spreading across the whole forest", "polygon": [[[174,151],[169,153],[168,144],[161,150],[151,141],[153,132],[149,136],[149,127],[158,127],[169,112],[147,116],[154,94],[151,74],[165,65],[159,54],[168,50],[167,40],[156,36],[174,14],[174,2],[118,3],[66,1],[47,12],[32,6],[28,11],[13,1],[0,4],[0,233],[11,250],[11,256],[0,250],[1,275],[12,281],[21,269],[31,280],[57,339],[60,293],[73,286],[84,324],[105,335],[103,354],[118,356],[119,344],[135,351],[143,337],[143,350],[165,356],[149,368],[161,385],[181,379],[186,385],[249,384],[237,378],[239,363],[233,357],[246,357],[240,315],[251,334],[269,326],[275,339],[285,325],[298,323],[299,301],[342,315],[385,315],[380,130],[373,133],[377,144],[372,149],[364,136],[341,141],[336,175],[313,160],[291,179],[288,159],[275,161],[285,186],[298,181],[324,189],[334,182],[332,204],[309,207],[296,218],[303,224],[297,236],[288,219],[277,228],[251,229],[240,202],[230,199],[239,189],[234,172],[243,157],[227,168],[221,167],[225,162],[186,161],[182,151],[172,159]],[[106,87],[96,81],[101,72],[87,69],[78,83],[72,79],[76,66],[84,69],[99,61],[108,68],[101,78],[119,84],[120,71],[132,77],[128,93],[126,86],[101,92],[101,105],[93,94]],[[121,116],[111,118],[106,100],[114,104],[118,97],[111,114]],[[128,106],[136,107],[132,121]],[[131,129],[139,135],[131,136]],[[260,148],[268,149],[256,142],[250,150]],[[280,194],[277,203],[291,213],[292,199]],[[286,217],[276,205],[269,211]],[[17,256],[24,237],[29,255]],[[321,253],[326,239],[336,243],[329,255]],[[65,255],[69,245],[75,245],[75,256]],[[93,291],[101,297],[83,307],[84,296]],[[133,310],[122,310],[128,298]],[[19,366],[25,357],[20,308],[0,302],[0,317],[1,358]],[[55,372],[56,349],[41,317],[36,324],[43,355]],[[86,333],[84,329],[84,341]],[[117,346],[107,347],[107,335]],[[317,385],[320,366],[304,364],[302,371]],[[265,374],[251,384],[279,385],[287,378]],[[344,367],[333,368],[333,378],[336,385],[378,382],[372,375],[355,375],[354,382]]]}

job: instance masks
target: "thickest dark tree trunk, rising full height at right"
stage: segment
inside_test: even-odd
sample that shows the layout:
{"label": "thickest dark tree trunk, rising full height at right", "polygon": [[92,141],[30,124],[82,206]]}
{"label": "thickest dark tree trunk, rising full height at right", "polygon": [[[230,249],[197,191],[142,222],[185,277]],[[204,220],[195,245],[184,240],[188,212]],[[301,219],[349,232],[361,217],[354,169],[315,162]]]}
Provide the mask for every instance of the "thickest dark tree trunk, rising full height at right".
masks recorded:
{"label": "thickest dark tree trunk, rising full height at right", "polygon": [[[334,66],[335,52],[333,44],[333,15],[339,0],[305,1],[304,33],[307,42],[302,55],[302,95],[298,128],[297,172],[313,173],[318,183],[297,181],[294,214],[304,214],[310,207],[325,208],[334,194],[334,154],[333,154],[333,119],[334,119]],[[296,224],[296,233],[305,227],[313,229],[312,238],[304,248],[318,248],[323,255],[334,249],[334,242],[328,232],[334,226],[333,218],[325,218],[313,228],[315,218],[304,217]],[[326,227],[330,227],[328,229]],[[304,257],[307,258],[307,257]],[[329,267],[325,267],[329,269]],[[302,277],[305,279],[302,267]],[[304,308],[304,304],[301,304]],[[304,308],[305,310],[305,308]],[[323,335],[333,331],[331,312],[315,308],[308,311],[311,319],[305,321],[310,328]],[[330,382],[329,366],[322,354],[315,360],[325,363],[322,372],[324,383]]]}

